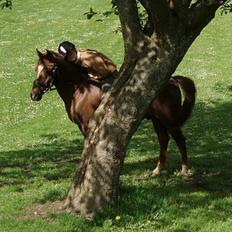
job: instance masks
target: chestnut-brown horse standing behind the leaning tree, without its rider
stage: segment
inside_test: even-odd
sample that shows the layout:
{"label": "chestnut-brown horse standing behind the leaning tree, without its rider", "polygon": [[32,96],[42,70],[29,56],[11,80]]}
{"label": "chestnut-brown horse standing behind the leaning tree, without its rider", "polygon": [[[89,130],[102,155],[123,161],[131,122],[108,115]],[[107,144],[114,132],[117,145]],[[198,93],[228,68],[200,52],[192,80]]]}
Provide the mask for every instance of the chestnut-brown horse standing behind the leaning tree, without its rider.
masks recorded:
{"label": "chestnut-brown horse standing behind the leaning tree, without its rider", "polygon": [[[66,62],[58,53],[37,50],[36,79],[31,99],[39,101],[44,93],[55,86],[65,104],[67,114],[85,136],[88,122],[101,103],[100,83],[91,81],[88,72],[76,64]],[[175,140],[181,154],[181,175],[188,175],[188,158],[185,137],[181,126],[190,117],[195,104],[194,82],[183,76],[173,76],[155,98],[145,115],[152,121],[157,133],[160,155],[152,176],[159,175],[165,166],[170,136]]]}

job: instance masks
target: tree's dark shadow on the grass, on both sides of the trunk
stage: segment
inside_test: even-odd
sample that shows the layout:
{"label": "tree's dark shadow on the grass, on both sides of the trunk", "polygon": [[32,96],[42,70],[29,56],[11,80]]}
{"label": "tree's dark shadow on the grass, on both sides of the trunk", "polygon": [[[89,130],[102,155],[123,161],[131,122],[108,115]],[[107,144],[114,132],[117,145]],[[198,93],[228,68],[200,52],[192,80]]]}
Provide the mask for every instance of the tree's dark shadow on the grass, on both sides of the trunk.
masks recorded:
{"label": "tree's dark shadow on the grass, on both sides of the trunk", "polygon": [[[170,147],[168,171],[156,179],[128,178],[152,170],[158,157],[157,142],[149,122],[143,122],[133,137],[123,169],[121,196],[115,210],[106,210],[97,216],[100,225],[108,218],[122,215],[125,223],[150,220],[155,227],[171,225],[177,218],[195,217],[194,209],[205,210],[207,220],[223,220],[231,214],[227,199],[232,193],[232,103],[198,103],[192,119],[185,126],[189,159],[195,169],[192,178],[182,179],[173,174],[179,168],[179,153]],[[0,176],[6,184],[30,182],[35,177],[48,180],[70,178],[81,153],[83,141],[61,141],[56,135],[48,137],[54,142],[38,144],[31,149],[0,153]],[[133,158],[135,154],[136,158]],[[137,159],[139,155],[146,157]],[[153,155],[156,154],[156,155]],[[2,184],[4,185],[4,184]],[[0,182],[1,186],[1,182]],[[121,223],[121,224],[120,224]],[[117,226],[125,226],[120,222]],[[101,224],[102,225],[102,224]]]}

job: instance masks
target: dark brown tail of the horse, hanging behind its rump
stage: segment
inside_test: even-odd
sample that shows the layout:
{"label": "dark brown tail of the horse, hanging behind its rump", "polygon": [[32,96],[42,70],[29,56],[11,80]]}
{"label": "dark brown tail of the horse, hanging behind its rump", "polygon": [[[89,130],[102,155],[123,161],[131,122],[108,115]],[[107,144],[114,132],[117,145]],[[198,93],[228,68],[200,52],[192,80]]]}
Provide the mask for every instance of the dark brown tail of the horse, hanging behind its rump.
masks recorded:
{"label": "dark brown tail of the horse, hanging behind its rump", "polygon": [[180,126],[185,123],[185,121],[190,117],[195,100],[196,100],[196,87],[194,82],[183,76],[174,76],[173,77],[180,86],[180,91],[184,95],[184,100],[182,102],[182,108],[180,113]]}

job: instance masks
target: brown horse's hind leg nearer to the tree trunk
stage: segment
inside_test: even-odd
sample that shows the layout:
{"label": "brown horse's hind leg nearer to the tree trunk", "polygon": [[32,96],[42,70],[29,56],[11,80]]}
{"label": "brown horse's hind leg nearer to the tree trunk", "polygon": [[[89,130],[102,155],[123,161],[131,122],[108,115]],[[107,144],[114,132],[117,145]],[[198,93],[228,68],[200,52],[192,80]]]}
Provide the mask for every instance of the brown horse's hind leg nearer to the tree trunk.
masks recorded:
{"label": "brown horse's hind leg nearer to the tree trunk", "polygon": [[169,142],[169,135],[167,128],[164,127],[158,120],[153,119],[153,126],[158,135],[159,145],[160,145],[160,155],[159,161],[156,168],[152,171],[152,176],[160,175],[162,169],[164,169],[166,159],[167,159],[167,147]]}

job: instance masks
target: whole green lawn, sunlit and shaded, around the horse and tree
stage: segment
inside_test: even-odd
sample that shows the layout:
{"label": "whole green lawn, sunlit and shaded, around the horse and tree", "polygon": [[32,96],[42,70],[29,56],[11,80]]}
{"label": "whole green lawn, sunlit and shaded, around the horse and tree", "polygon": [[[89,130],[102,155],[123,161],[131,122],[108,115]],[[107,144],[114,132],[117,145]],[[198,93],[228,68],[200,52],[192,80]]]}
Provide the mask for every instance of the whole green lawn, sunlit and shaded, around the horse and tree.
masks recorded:
{"label": "whole green lawn, sunlit and shaded, around the horse and tree", "polygon": [[83,138],[55,91],[39,103],[30,100],[35,48],[56,49],[71,40],[120,66],[117,17],[95,22],[83,16],[90,6],[107,9],[107,2],[15,0],[12,11],[0,11],[0,231],[231,231],[232,15],[218,15],[176,71],[193,78],[198,90],[184,128],[193,178],[176,176],[180,161],[173,142],[167,171],[143,178],[159,153],[152,125],[144,121],[129,146],[119,204],[94,221],[54,211],[51,202],[65,198]]}

